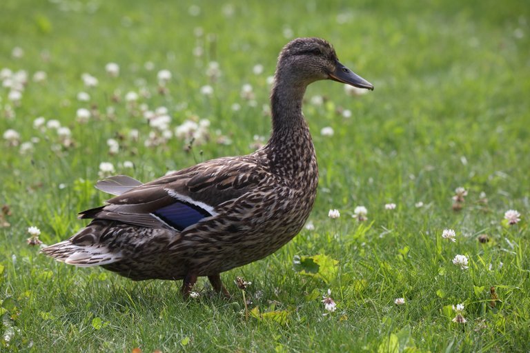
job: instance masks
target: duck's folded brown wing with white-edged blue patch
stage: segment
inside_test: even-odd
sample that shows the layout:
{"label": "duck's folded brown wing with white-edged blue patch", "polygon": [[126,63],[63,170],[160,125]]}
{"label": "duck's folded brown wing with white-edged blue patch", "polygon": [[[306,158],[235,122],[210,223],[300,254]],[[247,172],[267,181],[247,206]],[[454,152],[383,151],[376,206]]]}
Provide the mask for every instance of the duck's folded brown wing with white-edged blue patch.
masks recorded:
{"label": "duck's folded brown wing with white-edged blue patch", "polygon": [[[271,177],[251,159],[224,158],[200,163],[150,183],[114,177],[98,184],[117,194],[106,205],[79,214],[81,219],[108,219],[148,228],[184,230],[217,216],[219,205],[237,199]],[[138,182],[139,183],[139,182]]]}

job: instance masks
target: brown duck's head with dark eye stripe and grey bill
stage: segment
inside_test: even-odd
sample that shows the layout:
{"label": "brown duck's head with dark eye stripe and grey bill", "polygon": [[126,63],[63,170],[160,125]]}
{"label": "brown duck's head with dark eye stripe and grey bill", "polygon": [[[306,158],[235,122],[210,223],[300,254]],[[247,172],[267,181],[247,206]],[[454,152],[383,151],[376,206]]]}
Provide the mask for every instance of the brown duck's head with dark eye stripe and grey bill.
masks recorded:
{"label": "brown duck's head with dark eye stripe and grey bill", "polygon": [[342,65],[330,43],[320,38],[297,38],[284,46],[279,54],[277,74],[308,85],[331,79],[373,90],[373,85]]}

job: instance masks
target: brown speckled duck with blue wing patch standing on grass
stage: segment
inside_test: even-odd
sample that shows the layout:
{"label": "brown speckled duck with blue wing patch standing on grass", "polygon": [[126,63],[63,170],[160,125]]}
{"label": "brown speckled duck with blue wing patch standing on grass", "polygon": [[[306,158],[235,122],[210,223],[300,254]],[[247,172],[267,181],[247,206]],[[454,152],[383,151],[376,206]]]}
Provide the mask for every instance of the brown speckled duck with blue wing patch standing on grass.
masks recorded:
{"label": "brown speckled duck with blue wing patch standing on grass", "polygon": [[199,276],[207,276],[215,292],[229,297],[220,274],[282,248],[302,230],[313,208],[317,158],[302,101],[307,86],[321,80],[373,90],[340,63],[328,41],[294,39],[277,59],[266,145],[148,183],[124,175],[103,179],[96,188],[114,196],[79,213],[90,223],[41,252],[134,281],[182,280],[184,298]]}

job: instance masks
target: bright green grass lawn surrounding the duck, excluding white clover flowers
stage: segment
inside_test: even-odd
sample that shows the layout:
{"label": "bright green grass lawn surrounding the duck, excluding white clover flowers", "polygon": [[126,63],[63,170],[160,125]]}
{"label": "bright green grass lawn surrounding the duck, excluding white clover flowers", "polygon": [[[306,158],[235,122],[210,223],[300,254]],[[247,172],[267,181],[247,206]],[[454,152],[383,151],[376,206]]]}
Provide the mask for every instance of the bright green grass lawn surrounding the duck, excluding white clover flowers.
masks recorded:
{"label": "bright green grass lawn surrounding the duck, excluding white clover flowers", "polygon": [[[0,141],[0,203],[10,209],[10,225],[0,228],[0,351],[527,351],[527,4],[233,2],[232,17],[224,14],[225,3],[195,4],[201,9],[196,17],[184,1],[2,2],[0,69],[26,70],[29,81],[19,106],[8,100],[8,88],[0,88],[0,132],[14,129],[21,142],[40,141],[26,154]],[[202,37],[195,37],[197,27]],[[268,258],[222,274],[232,300],[211,295],[199,281],[199,299],[183,301],[180,283],[135,283],[99,268],[72,268],[26,244],[30,225],[51,244],[85,224],[77,212],[108,196],[92,188],[103,161],[114,163],[116,173],[148,181],[197,161],[251,152],[253,135],[270,131],[262,113],[266,77],[288,41],[286,29],[295,37],[331,41],[341,61],[375,91],[353,98],[331,81],[308,88],[304,112],[321,177],[310,218],[315,230],[302,230]],[[196,46],[204,56],[193,55]],[[23,49],[23,57],[11,56],[14,47]],[[213,60],[222,76],[212,83],[206,67]],[[110,61],[120,65],[117,78],[105,73]],[[148,61],[154,70],[144,68]],[[258,63],[264,73],[256,75]],[[173,73],[166,95],[157,93],[161,69]],[[32,81],[38,70],[48,74],[46,81]],[[99,85],[85,88],[84,72]],[[195,115],[209,119],[210,141],[191,152],[175,138],[146,147],[151,129],[135,114],[138,107],[112,100],[117,91],[122,98],[138,92],[139,79],[151,95],[138,105],[168,108],[172,129]],[[239,96],[245,83],[253,85],[255,108]],[[206,84],[213,86],[212,98],[199,91]],[[90,102],[77,101],[81,91]],[[315,95],[325,103],[312,104]],[[241,110],[233,112],[233,103]],[[115,109],[112,119],[108,107]],[[79,124],[78,108],[99,112],[99,118]],[[352,116],[342,117],[342,109]],[[40,116],[70,128],[75,144],[61,147],[55,131],[33,128]],[[320,135],[326,126],[335,130],[333,138]],[[140,132],[138,142],[128,138],[133,128]],[[218,144],[217,130],[233,143]],[[110,138],[121,145],[112,156]],[[124,168],[123,161],[135,168]],[[469,194],[454,212],[451,196],[459,186]],[[487,194],[487,205],[479,203],[480,192]],[[422,208],[415,207],[419,201]],[[384,210],[389,202],[396,210]],[[368,208],[368,221],[351,218],[357,205]],[[331,208],[342,216],[329,219]],[[509,209],[522,215],[517,225],[502,223]],[[457,232],[456,243],[441,238],[444,228]],[[477,241],[483,233],[491,239],[487,244]],[[317,254],[338,263],[322,265],[313,276],[293,269],[293,256]],[[469,256],[468,270],[453,265],[455,254]],[[250,309],[265,313],[259,319],[244,318],[236,276],[252,281],[246,296],[253,301]],[[491,286],[502,300],[493,309]],[[328,288],[337,311],[323,316]],[[404,305],[394,304],[398,297]],[[451,321],[449,307],[458,303],[465,305],[465,324]],[[271,319],[280,314],[287,320]]]}

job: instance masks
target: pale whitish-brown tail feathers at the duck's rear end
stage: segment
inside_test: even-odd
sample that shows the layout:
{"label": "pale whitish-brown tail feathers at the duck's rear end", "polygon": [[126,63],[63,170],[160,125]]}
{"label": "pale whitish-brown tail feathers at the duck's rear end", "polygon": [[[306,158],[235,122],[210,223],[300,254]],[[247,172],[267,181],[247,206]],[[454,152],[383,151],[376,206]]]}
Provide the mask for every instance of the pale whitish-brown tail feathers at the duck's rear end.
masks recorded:
{"label": "pale whitish-brown tail feathers at the duck's rear end", "polygon": [[105,245],[75,245],[69,240],[47,246],[41,252],[57,261],[79,267],[107,265],[120,261],[123,257],[121,252],[110,252]]}

